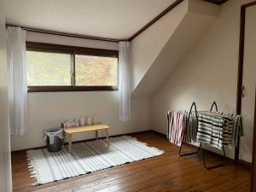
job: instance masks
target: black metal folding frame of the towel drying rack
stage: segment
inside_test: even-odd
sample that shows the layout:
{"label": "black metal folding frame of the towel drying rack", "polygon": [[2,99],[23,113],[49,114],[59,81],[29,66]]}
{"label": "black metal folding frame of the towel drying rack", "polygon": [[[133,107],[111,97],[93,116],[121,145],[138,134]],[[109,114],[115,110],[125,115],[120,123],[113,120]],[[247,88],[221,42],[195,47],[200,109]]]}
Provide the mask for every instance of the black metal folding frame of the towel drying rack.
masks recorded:
{"label": "black metal folding frame of the towel drying rack", "polygon": [[[210,111],[212,111],[213,107],[215,107],[215,110],[218,112],[218,107],[217,107],[217,103],[216,103],[216,102],[213,102],[213,103],[212,103],[212,107],[211,107]],[[195,113],[195,118],[196,118],[196,121],[197,121],[197,131],[198,131],[198,113],[197,113],[197,108],[196,108],[195,102],[193,102],[192,105],[191,105],[191,107],[190,107],[189,116],[188,116],[187,122],[189,122],[189,118],[191,117],[191,113],[192,113],[192,109],[193,109],[193,108],[195,108],[195,112],[193,112],[193,113]],[[178,150],[178,155],[181,156],[181,157],[182,157],[182,156],[187,156],[187,155],[190,155],[190,154],[198,154],[198,155],[199,155],[200,152],[201,152],[201,154],[202,154],[202,160],[203,160],[204,166],[205,166],[205,168],[206,168],[207,170],[211,170],[211,169],[214,169],[214,168],[217,168],[217,167],[220,167],[220,166],[225,166],[225,164],[226,164],[226,154],[225,154],[224,146],[223,146],[223,162],[220,163],[220,164],[218,164],[218,165],[216,165],[216,166],[207,166],[207,164],[206,164],[206,159],[205,159],[205,154],[204,154],[204,148],[203,148],[201,142],[200,142],[200,145],[199,145],[199,147],[198,147],[198,149],[197,149],[196,151],[189,152],[189,153],[182,153],[184,138],[185,138],[186,132],[187,132],[187,130],[188,130],[187,128],[189,127],[188,125],[189,125],[189,124],[187,123],[187,124],[186,124],[186,129],[185,129],[185,134],[184,134],[184,136],[183,136],[183,140],[182,140],[181,146],[180,146],[180,148],[179,148],[179,150]],[[197,131],[196,131],[196,132],[197,132]]]}

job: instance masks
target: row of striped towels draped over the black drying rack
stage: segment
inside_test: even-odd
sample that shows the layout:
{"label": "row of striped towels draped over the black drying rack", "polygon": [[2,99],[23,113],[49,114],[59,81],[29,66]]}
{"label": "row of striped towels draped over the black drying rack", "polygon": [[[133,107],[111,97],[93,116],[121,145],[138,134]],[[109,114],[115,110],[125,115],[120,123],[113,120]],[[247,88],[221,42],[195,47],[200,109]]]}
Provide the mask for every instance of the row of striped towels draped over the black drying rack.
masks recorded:
{"label": "row of striped towels draped over the black drying rack", "polygon": [[241,115],[201,111],[197,120],[195,112],[189,117],[188,112],[170,110],[167,119],[167,138],[177,146],[181,146],[184,137],[186,143],[195,141],[222,149],[224,145],[237,146],[238,138],[244,135]]}

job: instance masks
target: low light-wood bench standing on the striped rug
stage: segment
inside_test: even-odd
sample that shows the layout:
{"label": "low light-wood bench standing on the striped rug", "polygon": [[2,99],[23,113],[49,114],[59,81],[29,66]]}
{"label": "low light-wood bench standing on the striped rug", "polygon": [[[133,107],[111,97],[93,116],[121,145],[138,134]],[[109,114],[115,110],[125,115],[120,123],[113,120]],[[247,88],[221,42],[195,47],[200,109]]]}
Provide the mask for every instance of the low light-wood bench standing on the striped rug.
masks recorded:
{"label": "low light-wood bench standing on the striped rug", "polygon": [[71,153],[71,149],[72,149],[73,134],[87,132],[87,131],[96,131],[96,140],[97,140],[98,139],[98,131],[104,130],[106,133],[107,143],[108,143],[108,147],[109,147],[108,129],[109,129],[109,126],[103,125],[103,124],[64,128],[64,132],[67,133],[67,136],[68,136],[68,151],[69,151],[69,153]]}

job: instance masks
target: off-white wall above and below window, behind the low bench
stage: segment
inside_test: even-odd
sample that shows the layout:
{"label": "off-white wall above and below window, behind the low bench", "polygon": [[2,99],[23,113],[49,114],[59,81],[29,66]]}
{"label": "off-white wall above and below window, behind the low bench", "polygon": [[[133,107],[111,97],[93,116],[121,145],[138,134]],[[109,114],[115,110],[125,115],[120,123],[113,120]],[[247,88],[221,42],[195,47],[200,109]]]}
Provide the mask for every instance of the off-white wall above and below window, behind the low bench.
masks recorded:
{"label": "off-white wall above and below window, behind the low bench", "polygon": [[[27,33],[27,41],[67,44],[99,49],[118,49],[118,44],[67,38],[40,33]],[[149,129],[150,102],[132,99],[132,119],[121,123],[118,119],[118,91],[28,93],[28,131],[23,137],[11,137],[12,150],[44,146],[43,131],[58,127],[62,121],[96,115],[110,126],[110,135]],[[100,137],[102,133],[100,133]],[[73,140],[95,137],[95,133],[79,134]]]}

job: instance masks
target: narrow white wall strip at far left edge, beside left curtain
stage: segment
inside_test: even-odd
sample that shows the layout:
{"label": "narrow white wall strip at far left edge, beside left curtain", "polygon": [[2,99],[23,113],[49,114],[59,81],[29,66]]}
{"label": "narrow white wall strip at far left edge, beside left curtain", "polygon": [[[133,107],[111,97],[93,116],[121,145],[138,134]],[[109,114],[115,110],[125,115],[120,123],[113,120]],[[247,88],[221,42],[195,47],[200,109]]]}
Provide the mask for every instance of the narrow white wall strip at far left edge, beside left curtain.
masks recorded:
{"label": "narrow white wall strip at far left edge, beside left curtain", "polygon": [[0,2],[0,191],[12,191],[9,145],[9,106],[7,62],[5,51],[5,18]]}

